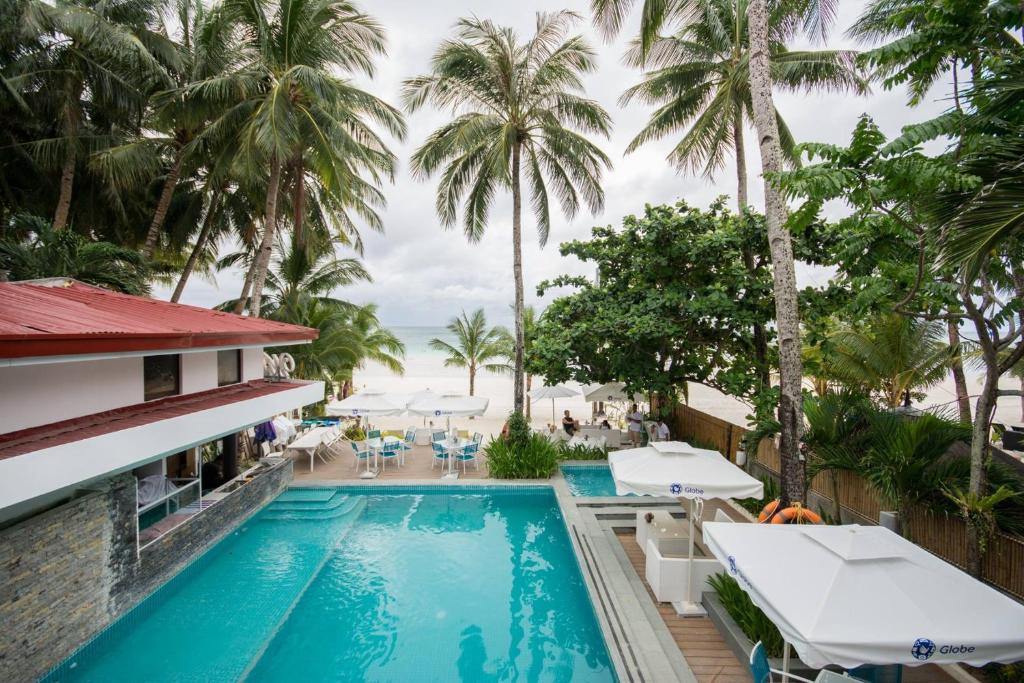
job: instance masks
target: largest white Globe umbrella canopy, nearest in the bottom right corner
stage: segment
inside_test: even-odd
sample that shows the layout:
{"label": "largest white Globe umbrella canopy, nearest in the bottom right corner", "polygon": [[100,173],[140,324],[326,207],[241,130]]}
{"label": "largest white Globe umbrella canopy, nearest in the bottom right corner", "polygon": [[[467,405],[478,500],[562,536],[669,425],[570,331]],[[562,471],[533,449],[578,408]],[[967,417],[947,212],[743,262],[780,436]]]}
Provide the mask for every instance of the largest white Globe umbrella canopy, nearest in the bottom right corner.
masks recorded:
{"label": "largest white Globe umbrella canopy, nearest in the bottom right corner", "polygon": [[1024,605],[882,526],[707,522],[703,538],[815,669],[1024,659]]}

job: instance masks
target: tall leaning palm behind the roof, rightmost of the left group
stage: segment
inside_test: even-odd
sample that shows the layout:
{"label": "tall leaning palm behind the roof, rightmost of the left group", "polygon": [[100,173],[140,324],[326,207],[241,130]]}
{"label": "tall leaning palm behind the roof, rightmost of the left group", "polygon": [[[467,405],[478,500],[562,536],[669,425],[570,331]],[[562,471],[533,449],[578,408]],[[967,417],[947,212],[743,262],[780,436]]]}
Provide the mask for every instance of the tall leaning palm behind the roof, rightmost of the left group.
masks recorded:
{"label": "tall leaning palm behind the roof, rightmost of the left group", "polygon": [[[241,312],[248,300],[251,312],[259,315],[288,165],[303,160],[301,169],[292,168],[292,181],[312,175],[339,204],[366,200],[368,190],[355,181],[359,173],[369,173],[376,183],[394,168],[394,156],[367,120],[397,137],[406,128],[397,110],[336,75],[372,76],[373,56],[384,52],[383,30],[351,2],[226,0],[222,11],[243,37],[238,49],[247,63],[193,84],[190,91],[227,101],[243,93],[221,121],[224,126],[244,122],[244,164],[253,172],[267,169],[263,230],[247,275],[251,294],[240,297],[238,306]],[[220,129],[218,122],[208,134]]]}

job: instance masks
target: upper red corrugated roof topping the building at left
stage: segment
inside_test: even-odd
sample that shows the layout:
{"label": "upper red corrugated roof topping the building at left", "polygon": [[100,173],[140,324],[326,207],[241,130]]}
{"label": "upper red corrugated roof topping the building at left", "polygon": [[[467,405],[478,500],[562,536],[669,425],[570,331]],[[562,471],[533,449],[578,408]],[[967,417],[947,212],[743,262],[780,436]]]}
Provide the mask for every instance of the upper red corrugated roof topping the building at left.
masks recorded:
{"label": "upper red corrugated roof topping the building at left", "polygon": [[0,358],[263,344],[316,330],[111,292],[73,280],[0,283]]}

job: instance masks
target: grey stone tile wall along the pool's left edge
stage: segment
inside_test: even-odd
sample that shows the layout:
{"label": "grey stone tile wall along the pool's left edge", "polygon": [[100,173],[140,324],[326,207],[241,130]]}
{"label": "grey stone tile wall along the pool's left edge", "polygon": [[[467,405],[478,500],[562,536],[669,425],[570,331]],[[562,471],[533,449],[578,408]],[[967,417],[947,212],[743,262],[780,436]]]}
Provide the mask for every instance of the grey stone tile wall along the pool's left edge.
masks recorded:
{"label": "grey stone tile wall along the pool's left edge", "polygon": [[274,465],[140,554],[131,474],[0,529],[0,681],[45,674],[291,479],[291,461]]}

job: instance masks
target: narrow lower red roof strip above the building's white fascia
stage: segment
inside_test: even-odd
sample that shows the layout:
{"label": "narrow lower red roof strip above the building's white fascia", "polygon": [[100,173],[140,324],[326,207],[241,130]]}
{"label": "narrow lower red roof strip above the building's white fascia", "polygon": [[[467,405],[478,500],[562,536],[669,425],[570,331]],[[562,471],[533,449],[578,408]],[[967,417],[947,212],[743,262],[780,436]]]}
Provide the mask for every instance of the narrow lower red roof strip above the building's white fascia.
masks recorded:
{"label": "narrow lower red roof strip above the building's white fascia", "polygon": [[[81,418],[63,420],[39,427],[0,434],[0,460],[27,453],[35,453],[55,445],[110,434],[111,432],[140,427],[161,420],[199,413],[211,408],[237,403],[250,398],[266,396],[279,391],[305,386],[308,382],[266,382],[255,380],[232,384],[219,389],[199,391],[182,396],[170,396],[136,403],[113,411],[94,413]],[[269,417],[269,416],[268,416]]]}

